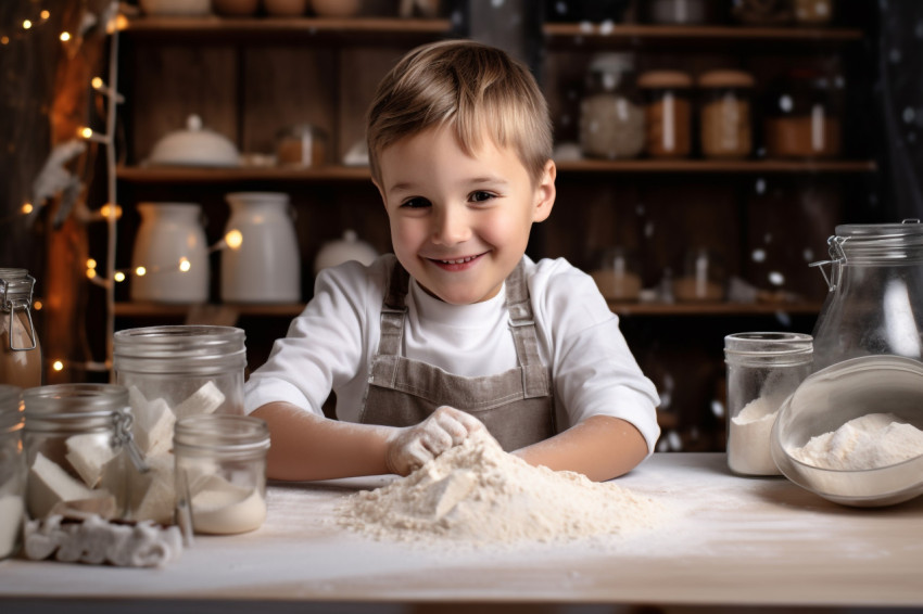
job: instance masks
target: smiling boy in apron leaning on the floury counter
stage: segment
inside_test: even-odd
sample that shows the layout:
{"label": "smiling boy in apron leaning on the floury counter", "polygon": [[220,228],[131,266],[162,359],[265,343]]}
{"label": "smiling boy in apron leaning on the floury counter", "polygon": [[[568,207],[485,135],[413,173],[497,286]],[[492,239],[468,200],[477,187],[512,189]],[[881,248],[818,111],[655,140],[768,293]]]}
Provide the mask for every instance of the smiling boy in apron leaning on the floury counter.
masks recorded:
{"label": "smiling boy in apron leaning on the floury counter", "polygon": [[[524,256],[555,201],[546,102],[503,51],[409,52],[369,111],[394,255],[323,271],[245,386],[278,479],[406,475],[488,428],[532,464],[621,475],[659,435],[654,385],[592,279]],[[337,394],[337,418],[321,405]]]}

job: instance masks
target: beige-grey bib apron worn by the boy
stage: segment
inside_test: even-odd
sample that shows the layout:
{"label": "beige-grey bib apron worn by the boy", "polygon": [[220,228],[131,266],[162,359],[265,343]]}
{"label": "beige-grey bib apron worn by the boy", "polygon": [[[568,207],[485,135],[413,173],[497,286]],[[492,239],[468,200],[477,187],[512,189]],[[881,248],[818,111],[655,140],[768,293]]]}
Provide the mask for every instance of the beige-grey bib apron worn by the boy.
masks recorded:
{"label": "beige-grey bib apron worn by the boy", "polygon": [[495,375],[453,375],[401,356],[408,282],[407,271],[394,258],[381,307],[381,338],[371,361],[359,422],[409,426],[447,405],[483,422],[507,451],[554,435],[554,394],[548,370],[539,357],[523,263],[506,279],[509,330],[519,367]]}

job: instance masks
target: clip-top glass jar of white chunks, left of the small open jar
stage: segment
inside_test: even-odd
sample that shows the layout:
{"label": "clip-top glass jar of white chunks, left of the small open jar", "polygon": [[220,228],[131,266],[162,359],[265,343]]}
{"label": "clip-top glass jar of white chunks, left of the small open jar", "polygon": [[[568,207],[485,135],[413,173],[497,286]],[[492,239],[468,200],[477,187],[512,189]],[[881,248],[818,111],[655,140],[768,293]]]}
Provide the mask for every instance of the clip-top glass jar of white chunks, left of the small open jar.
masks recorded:
{"label": "clip-top glass jar of white chunks, left of the small open jar", "polygon": [[[130,435],[128,391],[115,384],[56,384],[23,392],[23,443],[33,519],[62,506],[102,517],[128,511],[128,458],[142,470]],[[65,506],[66,504],[66,506]]]}

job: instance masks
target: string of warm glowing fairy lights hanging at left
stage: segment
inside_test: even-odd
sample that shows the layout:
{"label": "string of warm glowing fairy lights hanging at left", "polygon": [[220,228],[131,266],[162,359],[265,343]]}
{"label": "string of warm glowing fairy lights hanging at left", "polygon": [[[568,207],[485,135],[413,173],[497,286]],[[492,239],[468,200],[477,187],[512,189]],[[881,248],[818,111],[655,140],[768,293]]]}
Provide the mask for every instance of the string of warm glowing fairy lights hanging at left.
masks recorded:
{"label": "string of warm glowing fairy lights hanging at left", "polygon": [[[38,28],[48,26],[51,23],[51,11],[48,9],[38,10],[36,14],[28,18],[22,20],[11,31],[0,33],[0,50],[4,46],[13,44],[17,40],[35,33]],[[113,337],[115,333],[115,285],[125,282],[129,277],[144,277],[159,274],[164,272],[188,272],[192,270],[193,264],[189,258],[180,257],[174,265],[143,265],[134,264],[131,268],[116,268],[116,243],[117,243],[117,221],[122,218],[122,207],[117,204],[117,186],[116,186],[116,166],[117,157],[115,150],[115,130],[117,105],[124,102],[124,97],[118,92],[118,33],[127,26],[127,18],[119,12],[119,3],[116,0],[110,2],[99,18],[93,15],[84,15],[78,33],[63,30],[58,35],[58,39],[62,44],[80,44],[83,36],[89,27],[96,24],[103,25],[105,33],[110,39],[109,47],[109,63],[108,75],[103,79],[96,76],[90,80],[91,90],[99,97],[102,97],[103,106],[105,108],[105,127],[102,130],[96,130],[88,126],[81,126],[77,129],[75,136],[84,142],[92,142],[99,144],[105,152],[105,179],[106,179],[106,203],[99,209],[90,212],[84,216],[84,221],[103,221],[106,225],[106,250],[104,264],[100,266],[96,258],[88,257],[86,261],[86,277],[90,283],[101,286],[105,290],[105,360],[94,361],[87,360],[76,362],[67,360],[63,357],[49,357],[47,364],[52,371],[63,371],[67,366],[83,369],[85,371],[110,372],[112,374],[112,358],[113,358]],[[66,162],[66,161],[65,161]],[[31,216],[37,213],[42,203],[24,202],[17,209],[14,210],[12,217]],[[0,222],[7,222],[8,219],[2,219]],[[217,243],[212,245],[210,252],[215,252],[224,248],[237,250],[243,242],[243,235],[239,230],[229,230]],[[45,307],[40,297],[36,297],[33,302],[33,309],[40,311]]]}

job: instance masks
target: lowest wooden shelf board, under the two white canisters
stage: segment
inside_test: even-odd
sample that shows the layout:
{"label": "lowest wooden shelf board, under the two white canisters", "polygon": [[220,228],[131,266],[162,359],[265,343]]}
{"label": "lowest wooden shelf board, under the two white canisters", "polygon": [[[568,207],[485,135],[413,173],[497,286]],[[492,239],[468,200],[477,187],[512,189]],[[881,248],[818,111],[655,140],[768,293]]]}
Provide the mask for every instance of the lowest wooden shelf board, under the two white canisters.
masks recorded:
{"label": "lowest wooden shelf board, under the two white canisters", "polygon": [[[292,304],[223,304],[240,316],[294,318],[304,309],[301,303]],[[217,308],[218,305],[208,305]],[[166,303],[116,303],[115,315],[119,318],[182,318],[200,305]],[[618,303],[609,302],[609,308],[619,316],[772,316],[817,315],[820,303]]]}

